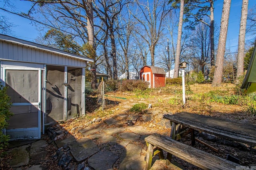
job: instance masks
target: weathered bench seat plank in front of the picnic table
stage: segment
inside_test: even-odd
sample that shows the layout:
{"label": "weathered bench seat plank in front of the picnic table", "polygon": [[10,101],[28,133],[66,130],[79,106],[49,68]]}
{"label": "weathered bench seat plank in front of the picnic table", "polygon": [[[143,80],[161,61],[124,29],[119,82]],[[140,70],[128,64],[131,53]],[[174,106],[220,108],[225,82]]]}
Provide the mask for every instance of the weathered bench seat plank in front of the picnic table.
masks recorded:
{"label": "weathered bench seat plank in front of the picnic table", "polygon": [[159,134],[150,135],[145,141],[205,170],[233,170],[240,166]]}

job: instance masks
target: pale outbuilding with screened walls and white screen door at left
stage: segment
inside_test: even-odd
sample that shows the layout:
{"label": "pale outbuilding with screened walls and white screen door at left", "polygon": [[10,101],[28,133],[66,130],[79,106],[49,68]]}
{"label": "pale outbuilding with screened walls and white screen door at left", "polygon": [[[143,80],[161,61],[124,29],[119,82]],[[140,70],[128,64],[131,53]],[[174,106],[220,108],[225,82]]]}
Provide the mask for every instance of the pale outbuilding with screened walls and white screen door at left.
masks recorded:
{"label": "pale outbuilding with screened walls and white screen door at left", "polygon": [[11,97],[11,140],[40,139],[52,121],[85,114],[85,67],[93,60],[0,34],[0,82]]}

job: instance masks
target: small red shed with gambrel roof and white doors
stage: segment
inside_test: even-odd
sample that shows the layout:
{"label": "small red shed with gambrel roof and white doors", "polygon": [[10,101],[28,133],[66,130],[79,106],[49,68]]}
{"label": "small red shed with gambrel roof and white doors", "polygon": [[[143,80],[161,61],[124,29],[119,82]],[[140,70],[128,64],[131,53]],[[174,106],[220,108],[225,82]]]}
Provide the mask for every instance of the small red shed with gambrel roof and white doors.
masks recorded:
{"label": "small red shed with gambrel roof and white doors", "polygon": [[140,69],[140,79],[149,82],[149,88],[165,87],[163,68],[145,65]]}

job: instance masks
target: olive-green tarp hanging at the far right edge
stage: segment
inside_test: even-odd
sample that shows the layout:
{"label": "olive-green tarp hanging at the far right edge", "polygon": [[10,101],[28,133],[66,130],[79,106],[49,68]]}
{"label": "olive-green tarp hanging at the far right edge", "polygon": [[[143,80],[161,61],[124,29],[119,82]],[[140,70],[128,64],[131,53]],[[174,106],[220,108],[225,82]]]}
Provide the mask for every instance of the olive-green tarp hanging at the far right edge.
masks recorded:
{"label": "olive-green tarp hanging at the far right edge", "polygon": [[245,93],[256,92],[256,45],[241,88],[245,89]]}

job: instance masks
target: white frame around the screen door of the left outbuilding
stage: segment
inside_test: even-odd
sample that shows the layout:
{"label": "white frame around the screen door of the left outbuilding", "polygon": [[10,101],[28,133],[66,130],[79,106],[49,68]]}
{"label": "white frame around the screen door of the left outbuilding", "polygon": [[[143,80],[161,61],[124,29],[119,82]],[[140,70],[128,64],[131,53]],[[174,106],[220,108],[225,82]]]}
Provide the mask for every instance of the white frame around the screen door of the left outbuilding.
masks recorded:
{"label": "white frame around the screen door of the left outbuilding", "polygon": [[[42,78],[44,77],[44,65],[43,64],[33,64],[33,63],[18,63],[10,61],[1,61],[1,80],[2,85],[6,86],[6,70],[35,70],[38,71],[38,102],[33,103],[14,103],[12,106],[38,106],[38,127],[32,128],[19,128],[19,129],[4,129],[4,133],[12,133],[14,136],[23,132],[24,134],[31,134],[32,137],[19,137],[12,138],[13,140],[24,140],[24,139],[40,139],[41,138],[41,110],[42,110]],[[42,74],[43,73],[43,74]],[[44,125],[43,125],[44,127]],[[25,135],[24,135],[25,136]]]}

